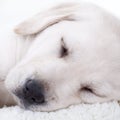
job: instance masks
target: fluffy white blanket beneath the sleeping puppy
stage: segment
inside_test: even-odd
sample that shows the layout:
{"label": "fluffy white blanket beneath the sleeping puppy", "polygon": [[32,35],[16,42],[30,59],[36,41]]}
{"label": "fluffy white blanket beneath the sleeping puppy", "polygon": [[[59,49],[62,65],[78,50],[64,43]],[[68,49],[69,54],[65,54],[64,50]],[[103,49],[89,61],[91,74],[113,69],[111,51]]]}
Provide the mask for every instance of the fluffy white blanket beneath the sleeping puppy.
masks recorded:
{"label": "fluffy white blanket beneath the sleeping puppy", "polygon": [[0,109],[0,120],[120,120],[120,106],[116,101],[80,104],[49,113],[4,107]]}

